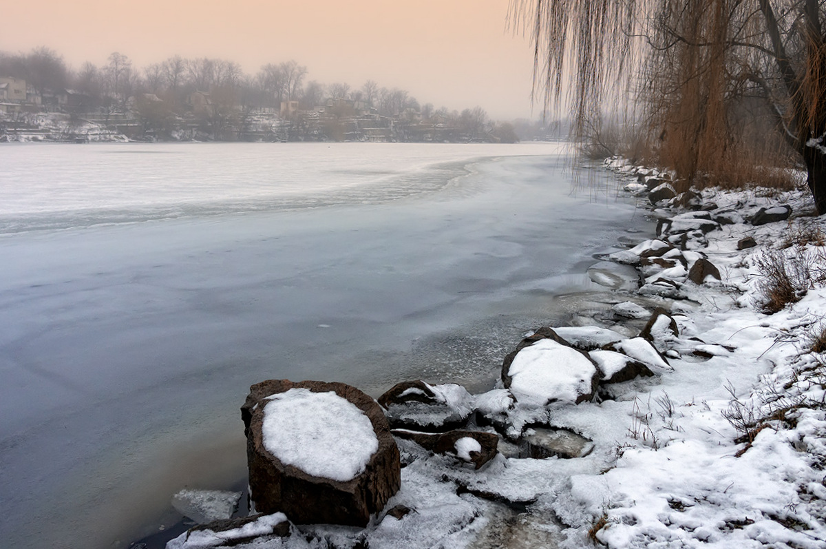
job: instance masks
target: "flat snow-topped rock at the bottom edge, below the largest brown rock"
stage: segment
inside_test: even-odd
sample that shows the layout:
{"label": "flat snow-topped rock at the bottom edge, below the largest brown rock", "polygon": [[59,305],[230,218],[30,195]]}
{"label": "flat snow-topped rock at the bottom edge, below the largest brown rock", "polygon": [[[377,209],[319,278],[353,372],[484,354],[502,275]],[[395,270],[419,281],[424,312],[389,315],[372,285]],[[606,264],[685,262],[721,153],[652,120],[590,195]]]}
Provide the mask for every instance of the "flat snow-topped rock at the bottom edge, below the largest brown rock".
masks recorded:
{"label": "flat snow-topped rock at the bottom edge, below the largest brown rock", "polygon": [[187,532],[167,542],[166,549],[235,547],[248,542],[275,543],[277,538],[289,535],[290,523],[284,513],[255,514],[249,517],[218,520],[190,528]]}

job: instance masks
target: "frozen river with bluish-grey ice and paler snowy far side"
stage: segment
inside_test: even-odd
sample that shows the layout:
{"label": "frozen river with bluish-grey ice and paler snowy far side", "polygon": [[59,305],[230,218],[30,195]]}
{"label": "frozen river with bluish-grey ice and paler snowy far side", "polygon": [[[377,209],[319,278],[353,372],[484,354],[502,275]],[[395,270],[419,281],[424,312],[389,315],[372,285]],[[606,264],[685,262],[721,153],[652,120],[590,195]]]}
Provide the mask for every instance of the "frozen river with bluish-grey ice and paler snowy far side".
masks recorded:
{"label": "frozen river with bluish-grey ice and paler snowy far side", "polygon": [[249,385],[488,389],[629,227],[554,144],[0,146],[0,544],[120,547],[245,470]]}

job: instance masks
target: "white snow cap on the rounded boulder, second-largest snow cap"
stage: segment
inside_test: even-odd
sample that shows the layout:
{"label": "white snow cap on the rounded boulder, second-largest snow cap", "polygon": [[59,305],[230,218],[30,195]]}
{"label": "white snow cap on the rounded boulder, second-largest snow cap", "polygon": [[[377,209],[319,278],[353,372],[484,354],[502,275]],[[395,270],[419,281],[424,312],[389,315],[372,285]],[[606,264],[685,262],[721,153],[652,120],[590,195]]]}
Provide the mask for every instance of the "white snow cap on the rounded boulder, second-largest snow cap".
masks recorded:
{"label": "white snow cap on the rounded boulder, second-largest snow cap", "polygon": [[575,403],[591,393],[596,366],[576,349],[543,339],[519,351],[508,373],[517,400]]}

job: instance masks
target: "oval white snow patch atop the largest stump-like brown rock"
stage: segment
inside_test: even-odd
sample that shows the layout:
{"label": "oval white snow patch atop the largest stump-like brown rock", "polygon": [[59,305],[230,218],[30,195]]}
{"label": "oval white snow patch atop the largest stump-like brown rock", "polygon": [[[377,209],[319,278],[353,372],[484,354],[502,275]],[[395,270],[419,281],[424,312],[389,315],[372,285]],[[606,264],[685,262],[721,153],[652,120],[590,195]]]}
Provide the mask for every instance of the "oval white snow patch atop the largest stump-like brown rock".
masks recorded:
{"label": "oval white snow patch atop the largest stump-like brown rock", "polygon": [[370,419],[332,391],[289,389],[267,399],[263,446],[286,465],[346,482],[360,474],[378,450]]}

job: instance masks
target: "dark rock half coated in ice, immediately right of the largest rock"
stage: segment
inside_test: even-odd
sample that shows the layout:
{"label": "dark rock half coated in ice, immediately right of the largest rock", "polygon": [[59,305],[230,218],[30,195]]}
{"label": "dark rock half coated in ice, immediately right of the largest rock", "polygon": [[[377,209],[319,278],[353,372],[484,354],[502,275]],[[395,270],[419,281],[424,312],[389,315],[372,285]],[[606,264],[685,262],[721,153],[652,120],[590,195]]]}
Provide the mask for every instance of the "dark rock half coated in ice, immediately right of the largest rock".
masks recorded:
{"label": "dark rock half coated in ice, immediately right of the largest rock", "polygon": [[378,403],[394,429],[444,432],[464,427],[473,411],[472,400],[461,385],[430,385],[415,380],[394,385],[378,398]]}

